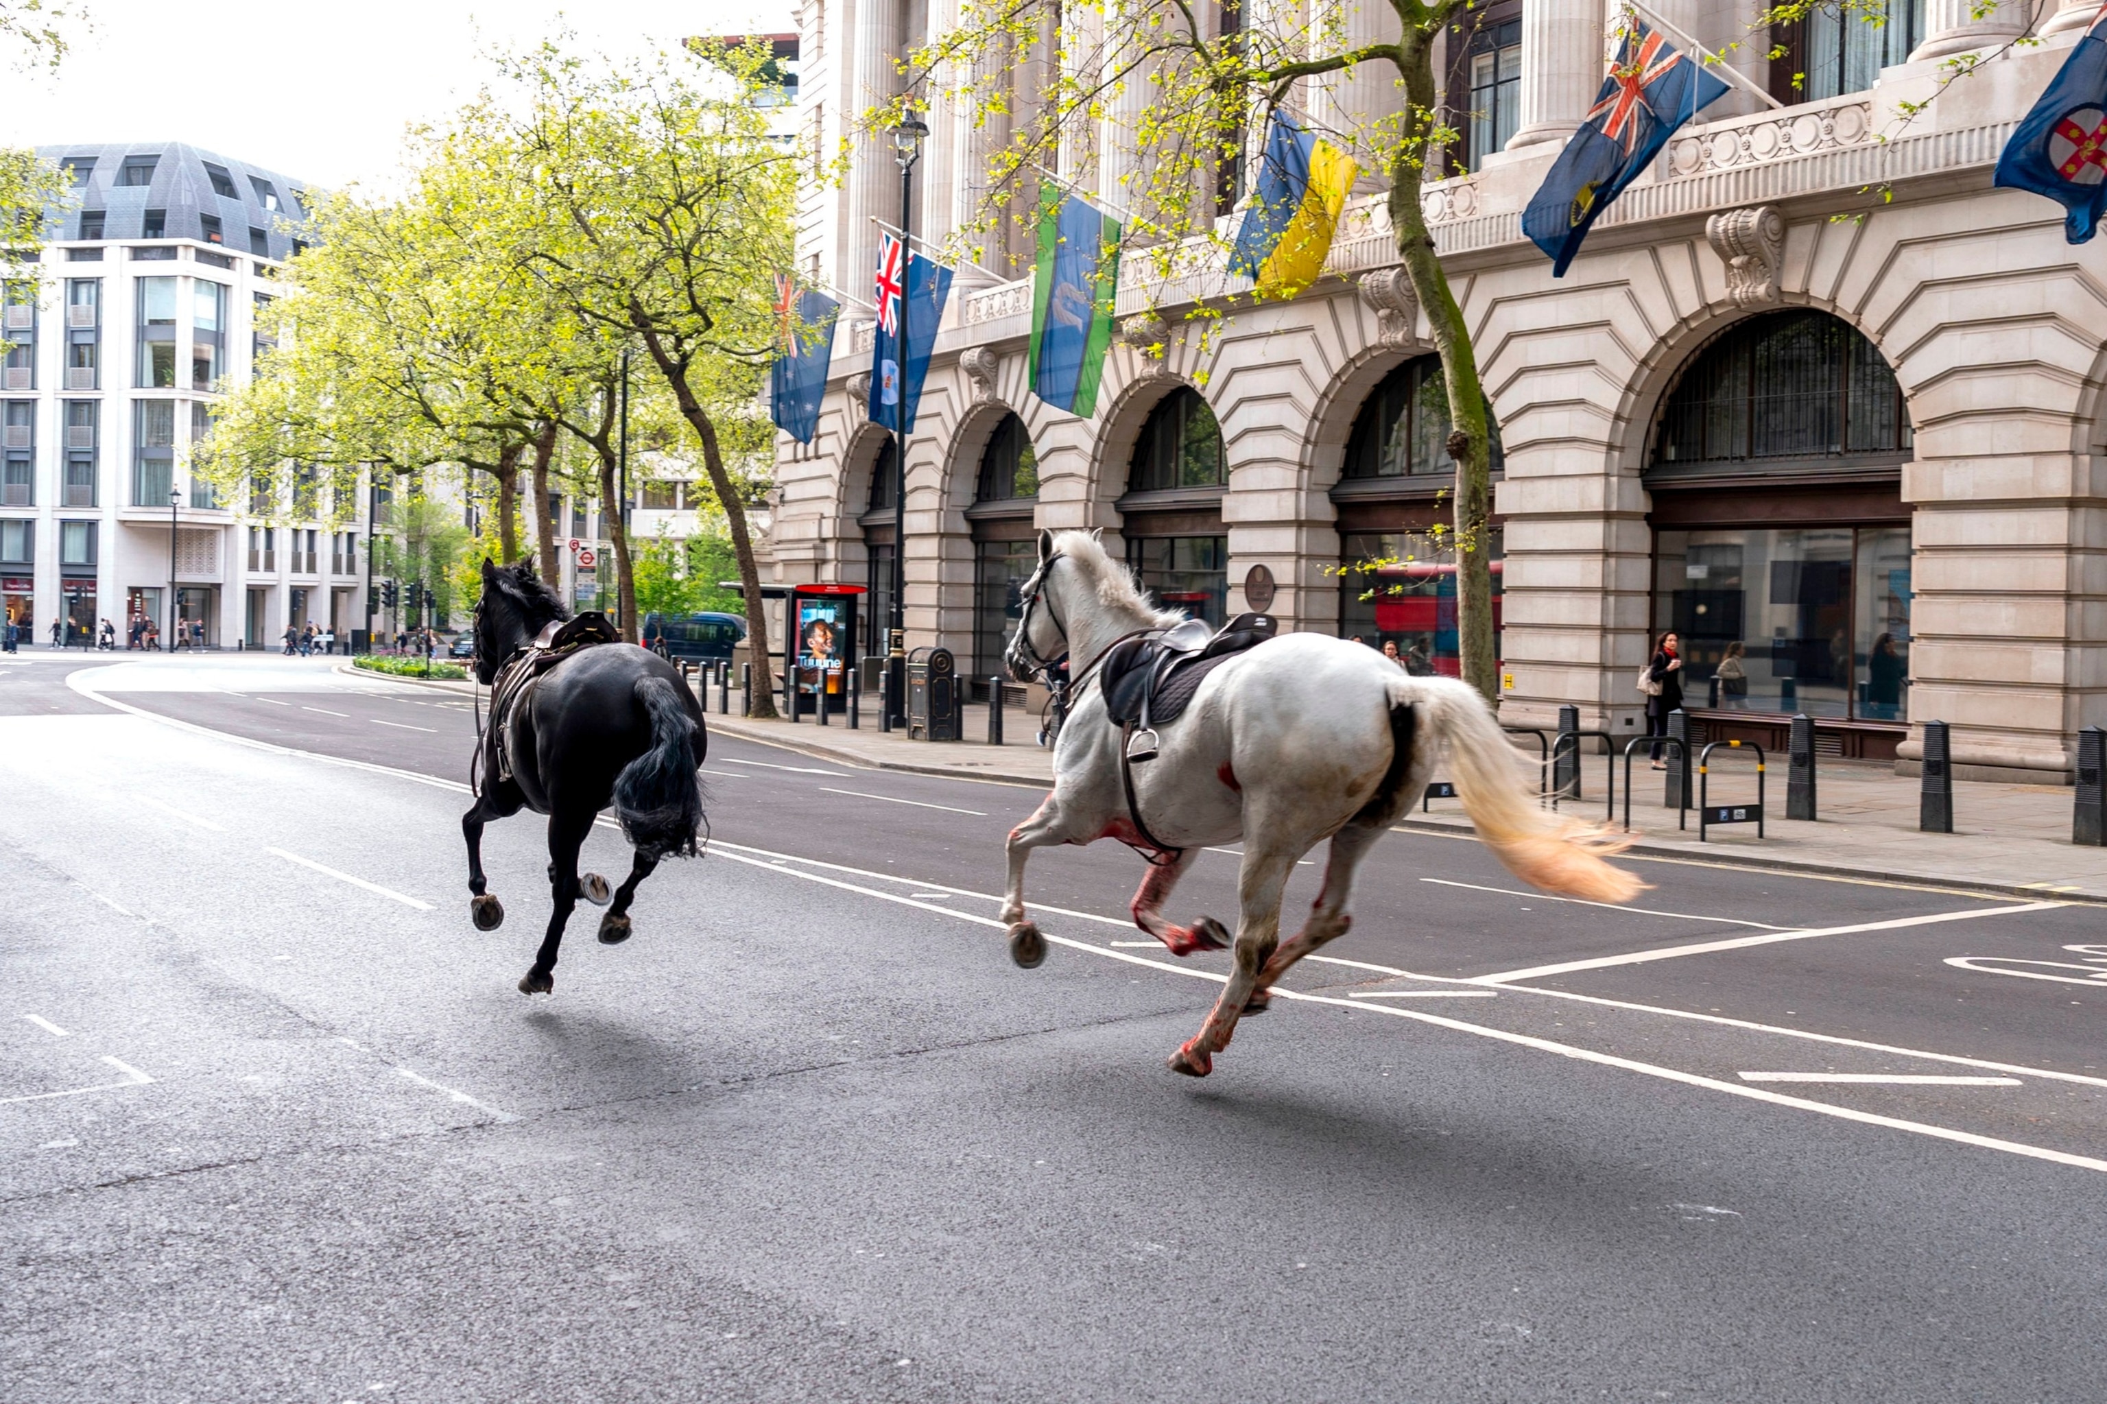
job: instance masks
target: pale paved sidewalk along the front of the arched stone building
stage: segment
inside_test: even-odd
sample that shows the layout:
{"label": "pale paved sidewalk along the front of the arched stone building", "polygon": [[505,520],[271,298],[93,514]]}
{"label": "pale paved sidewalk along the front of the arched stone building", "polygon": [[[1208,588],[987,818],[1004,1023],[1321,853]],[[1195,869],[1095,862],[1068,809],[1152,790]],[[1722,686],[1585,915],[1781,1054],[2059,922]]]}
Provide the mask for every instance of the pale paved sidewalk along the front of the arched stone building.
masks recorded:
{"label": "pale paved sidewalk along the front of the arched stone building", "polygon": [[[714,694],[710,698],[714,706]],[[733,698],[737,706],[737,698]],[[809,757],[874,769],[904,769],[931,776],[971,780],[1011,780],[1018,784],[1051,784],[1051,755],[1035,744],[1039,719],[1009,708],[1003,717],[1005,746],[988,746],[988,708],[967,708],[965,742],[933,744],[908,740],[904,732],[877,729],[874,710],[864,725],[815,725],[811,719],[748,721],[718,717],[710,710],[710,729],[771,746],[784,746]],[[1713,755],[1713,803],[1755,799],[1753,755]],[[1441,774],[1441,772],[1437,772]],[[2071,843],[2069,786],[2052,784],[1989,784],[1955,780],[1955,833],[1919,833],[1919,780],[1901,778],[1886,765],[1825,761],[1818,769],[1820,822],[1795,822],[1785,816],[1785,759],[1776,757],[1766,776],[1764,837],[1755,824],[1713,826],[1707,843],[1698,843],[1698,816],[1690,826],[1675,828],[1675,810],[1662,805],[1667,776],[1637,761],[1631,772],[1631,826],[1639,831],[1635,854],[1658,858],[1707,858],[1747,866],[1835,873],[1943,888],[1970,888],[2012,896],[2107,902],[2107,847]],[[1624,776],[1618,765],[1618,788]],[[1559,807],[1576,818],[1603,816],[1603,757],[1587,757],[1582,799]],[[1696,780],[1692,778],[1692,797]],[[1624,803],[1618,795],[1618,816]],[[1454,799],[1437,799],[1414,810],[1399,828],[1469,831],[1471,822]]]}

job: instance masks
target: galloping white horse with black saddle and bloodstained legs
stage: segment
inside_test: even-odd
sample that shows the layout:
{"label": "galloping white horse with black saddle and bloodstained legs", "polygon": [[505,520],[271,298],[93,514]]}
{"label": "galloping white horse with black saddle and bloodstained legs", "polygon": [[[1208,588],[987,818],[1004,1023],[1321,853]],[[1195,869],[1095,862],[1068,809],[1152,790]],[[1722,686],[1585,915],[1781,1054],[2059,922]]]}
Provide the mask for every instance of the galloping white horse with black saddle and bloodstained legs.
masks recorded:
{"label": "galloping white horse with black saddle and bloodstained legs", "polygon": [[[1047,843],[1119,839],[1150,860],[1134,921],[1171,955],[1235,951],[1235,972],[1201,1031],[1171,1054],[1193,1077],[1214,1071],[1239,1014],[1266,1008],[1273,984],[1311,951],[1353,925],[1353,873],[1382,831],[1426,788],[1448,744],[1450,772],[1479,839],[1517,877],[1544,892],[1624,902],[1643,883],[1603,862],[1624,841],[1536,803],[1519,757],[1475,689],[1443,677],[1410,677],[1382,654],[1323,635],[1281,635],[1218,664],[1178,721],[1157,725],[1159,753],[1138,761],[1127,807],[1119,727],[1110,723],[1094,668],[1123,637],[1171,626],[1112,561],[1096,535],[1039,535],[1039,569],[1024,586],[1024,613],[1009,643],[1020,681],[1062,654],[1072,702],[1054,746],[1054,793],[1009,831],[1003,921],[1009,955],[1032,968],[1045,938],[1024,917],[1024,862]],[[1138,822],[1136,822],[1138,820]],[[1237,934],[1212,917],[1163,919],[1163,900],[1201,847],[1243,841]],[[1308,921],[1279,944],[1281,890],[1296,860],[1330,839],[1323,890]]]}

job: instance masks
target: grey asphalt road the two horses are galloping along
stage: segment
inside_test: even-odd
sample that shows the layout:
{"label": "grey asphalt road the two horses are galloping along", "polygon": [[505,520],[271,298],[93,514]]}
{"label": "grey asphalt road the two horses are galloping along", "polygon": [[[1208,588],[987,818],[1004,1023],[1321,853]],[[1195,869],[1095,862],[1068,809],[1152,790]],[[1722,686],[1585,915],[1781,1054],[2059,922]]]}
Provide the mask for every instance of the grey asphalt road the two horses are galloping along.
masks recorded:
{"label": "grey asphalt road the two horses are galloping along", "polygon": [[1035,860],[1020,972],[1037,793],[725,738],[710,856],[529,1001],[472,732],[0,662],[0,1398],[2101,1398],[2096,906],[1641,860],[1618,911],[1397,833],[1195,1084],[1222,957],[1140,944],[1131,854]]}

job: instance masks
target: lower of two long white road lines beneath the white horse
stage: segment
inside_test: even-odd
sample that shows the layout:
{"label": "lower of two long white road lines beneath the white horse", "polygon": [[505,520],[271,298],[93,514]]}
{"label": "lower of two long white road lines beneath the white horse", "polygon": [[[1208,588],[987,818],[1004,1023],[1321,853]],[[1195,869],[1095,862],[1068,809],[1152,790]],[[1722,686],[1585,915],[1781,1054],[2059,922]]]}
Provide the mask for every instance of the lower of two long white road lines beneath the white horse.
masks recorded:
{"label": "lower of two long white road lines beneath the white horse", "polygon": [[[752,850],[752,852],[767,852],[767,850]],[[973,913],[952,911],[948,906],[931,906],[929,902],[917,902],[912,898],[904,898],[904,896],[898,896],[898,894],[891,894],[891,892],[879,892],[877,888],[864,888],[860,883],[845,883],[845,881],[841,881],[836,877],[824,877],[820,873],[801,873],[796,869],[777,866],[775,862],[769,862],[769,860],[763,860],[763,858],[746,858],[742,854],[723,854],[723,856],[731,858],[733,862],[746,862],[746,864],[756,866],[756,869],[769,869],[773,873],[788,873],[790,877],[801,877],[801,879],[805,879],[809,883],[822,883],[826,888],[839,888],[843,892],[860,892],[864,896],[874,896],[881,902],[898,902],[900,906],[919,906],[923,911],[944,913],[946,917],[954,917],[959,921],[973,921],[978,925],[992,925],[997,930],[1007,930],[995,917],[978,917]],[[877,877],[885,877],[885,875],[877,875]],[[938,883],[927,883],[927,885],[936,888]],[[2061,902],[2044,902],[2044,906],[2061,906]],[[1142,955],[1127,955],[1125,951],[1108,951],[1108,949],[1104,949],[1100,944],[1091,944],[1087,940],[1075,940],[1070,936],[1047,934],[1045,938],[1047,938],[1047,942],[1058,944],[1058,947],[1068,947],[1072,951],[1087,951],[1091,955],[1102,955],[1102,957],[1115,959],[1115,961],[1127,961],[1129,966],[1148,966],[1150,970],[1165,970],[1169,974],[1182,974],[1182,976],[1188,976],[1188,978],[1195,978],[1195,980],[1212,980],[1216,984],[1224,984],[1228,980],[1228,976],[1220,976],[1220,974],[1216,974],[1212,970],[1199,970],[1199,968],[1193,968],[1193,966],[1171,966],[1167,961],[1155,961],[1155,959],[1148,959],[1148,957],[1142,957]],[[1658,1077],[1662,1081],[1677,1081],[1677,1084],[1683,1084],[1688,1088],[1705,1088],[1709,1092],[1724,1092],[1728,1096],[1740,1096],[1740,1098],[1755,1100],[1755,1103],[1770,1103],[1772,1107],[1793,1107],[1797,1111],[1812,1111],[1814,1115],[1835,1117],[1839,1122],[1858,1122],[1863,1126],[1882,1126],[1886,1130],[1901,1130],[1901,1132],[1909,1132],[1909,1134],[1915,1134],[1915,1136],[1930,1136],[1934,1140],[1953,1140],[1953,1143],[1972,1145],[1972,1147],[1978,1147],[1978,1149],[1985,1149],[1985,1151],[2004,1151],[2008,1155],[2023,1155],[2023,1157],[2029,1157],[2029,1159],[2046,1159],[2046,1162],[2052,1162],[2052,1164],[2059,1164],[2059,1166],[2073,1166],[2073,1168],[2080,1168],[2080,1170],[2099,1170],[2099,1172],[2107,1174],[2107,1159],[2094,1159],[2090,1155],[2071,1155],[2069,1151],[2052,1151],[2052,1149],[2040,1147],[2040,1145],[2025,1145],[2025,1143],[2019,1143],[2019,1140],[2000,1140],[1995,1136],[1978,1136],[1974,1132],[1953,1130],[1951,1126],[1932,1126],[1928,1122],[1907,1122],[1903,1117],[1888,1117],[1888,1115],[1879,1115],[1879,1113],[1873,1113],[1873,1111],[1858,1111],[1856,1107],[1839,1107],[1835,1103],[1818,1103],[1818,1100],[1812,1100],[1812,1098],[1806,1098],[1806,1096],[1789,1096],[1785,1092],[1770,1092],[1768,1088],[1755,1088],[1755,1086],[1740,1084],[1740,1081],[1721,1081],[1717,1077],[1702,1077],[1698,1073],[1686,1073],[1681,1069],[1660,1067],[1658,1062],[1639,1062],[1637,1058],[1620,1058],[1616,1054],[1595,1052],[1593,1048],[1576,1048],[1572,1044],[1557,1044],[1553,1039],[1540,1039],[1540,1037],[1534,1037],[1534,1035],[1528,1035],[1528,1033],[1511,1033],[1507,1029],[1492,1029],[1492,1027],[1485,1027],[1485,1025],[1473,1025],[1473,1022],[1464,1022],[1460,1018],[1448,1018],[1445,1014],[1429,1014],[1424,1010],[1397,1008],[1397,1006],[1389,1006],[1389,1003],[1365,1003],[1365,1001],[1355,1001],[1355,999],[1334,999],[1330,995],[1304,995],[1300,991],[1281,989],[1281,987],[1275,987],[1273,993],[1277,997],[1281,997],[1281,999],[1289,999],[1289,1001],[1296,1001],[1296,1003],[1327,1003],[1327,1006],[1340,1008],[1340,1010],[1367,1010],[1372,1014],[1389,1014],[1391,1018],[1410,1018],[1410,1020],[1416,1020],[1416,1022],[1422,1022],[1422,1025],[1433,1025],[1437,1029],[1450,1029],[1454,1033],[1473,1033],[1477,1037],[1496,1039],[1500,1044],[1515,1044],[1517,1048],[1534,1048],[1538,1052],[1557,1054],[1561,1058],[1572,1058],[1576,1062],[1595,1062],[1599,1067],[1614,1067],[1614,1069],[1622,1069],[1627,1073],[1639,1073],[1643,1077]]]}

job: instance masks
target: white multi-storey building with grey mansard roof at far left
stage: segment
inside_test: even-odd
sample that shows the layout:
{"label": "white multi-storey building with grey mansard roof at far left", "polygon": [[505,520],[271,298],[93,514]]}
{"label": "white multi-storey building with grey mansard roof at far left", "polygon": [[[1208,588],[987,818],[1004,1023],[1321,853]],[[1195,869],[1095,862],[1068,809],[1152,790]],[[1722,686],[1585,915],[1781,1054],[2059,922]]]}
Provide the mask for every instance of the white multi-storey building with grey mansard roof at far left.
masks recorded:
{"label": "white multi-storey building with grey mansard roof at far left", "polygon": [[[179,143],[53,145],[76,207],[6,272],[0,333],[0,594],[40,643],[61,622],[118,647],[133,622],[183,643],[274,647],[365,628],[367,502],[329,523],[295,470],[282,502],[188,472],[219,396],[265,344],[257,310],[297,249],[301,186]],[[171,506],[173,495],[173,506]],[[365,498],[365,493],[360,493]],[[164,639],[164,647],[166,647]]]}

